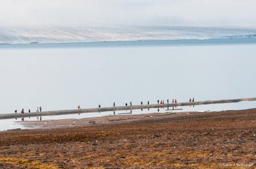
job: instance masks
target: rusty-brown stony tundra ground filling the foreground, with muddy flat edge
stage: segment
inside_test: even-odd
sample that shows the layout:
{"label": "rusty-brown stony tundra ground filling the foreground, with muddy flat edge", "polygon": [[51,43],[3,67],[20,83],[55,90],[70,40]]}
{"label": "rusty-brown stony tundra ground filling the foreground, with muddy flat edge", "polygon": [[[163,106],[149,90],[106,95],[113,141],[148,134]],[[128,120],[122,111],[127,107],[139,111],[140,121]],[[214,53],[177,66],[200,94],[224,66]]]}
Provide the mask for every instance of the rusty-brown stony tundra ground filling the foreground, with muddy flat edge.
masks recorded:
{"label": "rusty-brown stony tundra ground filling the foreground, with muddy flat edge", "polygon": [[0,168],[255,168],[256,108],[29,121]]}

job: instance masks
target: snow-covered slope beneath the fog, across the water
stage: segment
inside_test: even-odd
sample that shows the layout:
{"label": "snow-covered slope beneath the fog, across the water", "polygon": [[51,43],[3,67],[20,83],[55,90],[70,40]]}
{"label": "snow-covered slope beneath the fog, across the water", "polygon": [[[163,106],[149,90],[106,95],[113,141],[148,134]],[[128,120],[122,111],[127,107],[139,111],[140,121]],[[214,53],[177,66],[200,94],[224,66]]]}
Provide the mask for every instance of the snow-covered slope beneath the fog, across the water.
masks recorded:
{"label": "snow-covered slope beneath the fog, across the water", "polygon": [[0,44],[255,38],[255,32],[200,27],[0,28]]}

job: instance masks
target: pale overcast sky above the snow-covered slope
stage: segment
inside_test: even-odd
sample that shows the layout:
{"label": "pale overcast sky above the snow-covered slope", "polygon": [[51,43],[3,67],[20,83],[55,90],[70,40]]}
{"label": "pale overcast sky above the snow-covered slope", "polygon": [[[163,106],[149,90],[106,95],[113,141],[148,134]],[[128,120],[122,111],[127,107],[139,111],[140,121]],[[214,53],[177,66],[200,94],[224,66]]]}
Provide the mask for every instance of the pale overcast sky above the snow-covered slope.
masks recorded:
{"label": "pale overcast sky above the snow-covered slope", "polygon": [[2,0],[0,27],[256,27],[254,0]]}

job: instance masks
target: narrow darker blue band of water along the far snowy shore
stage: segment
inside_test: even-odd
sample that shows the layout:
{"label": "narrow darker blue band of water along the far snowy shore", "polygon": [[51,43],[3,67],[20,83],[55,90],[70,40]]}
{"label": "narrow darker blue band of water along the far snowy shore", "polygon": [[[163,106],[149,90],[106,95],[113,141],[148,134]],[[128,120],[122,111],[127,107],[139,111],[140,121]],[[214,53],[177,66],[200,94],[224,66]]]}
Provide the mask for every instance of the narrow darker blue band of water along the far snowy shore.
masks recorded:
{"label": "narrow darker blue band of water along the far snowy shore", "polygon": [[198,46],[216,44],[255,44],[256,38],[209,38],[209,39],[159,39],[131,41],[88,41],[88,42],[29,42],[29,43],[0,43],[0,48],[62,48],[62,47],[132,47],[132,46]]}

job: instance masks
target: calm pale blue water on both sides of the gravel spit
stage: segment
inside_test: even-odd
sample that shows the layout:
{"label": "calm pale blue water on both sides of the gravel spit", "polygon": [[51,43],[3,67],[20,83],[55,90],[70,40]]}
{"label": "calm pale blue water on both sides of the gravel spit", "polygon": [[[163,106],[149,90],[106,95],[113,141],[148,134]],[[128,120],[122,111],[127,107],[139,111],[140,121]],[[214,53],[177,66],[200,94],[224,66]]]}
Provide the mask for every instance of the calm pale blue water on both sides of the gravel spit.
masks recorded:
{"label": "calm pale blue water on both sides of the gravel spit", "polygon": [[[253,98],[255,49],[253,39],[1,45],[0,113]],[[191,111],[255,102],[228,105]]]}

